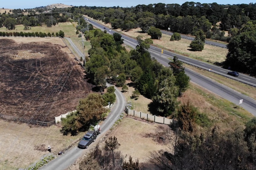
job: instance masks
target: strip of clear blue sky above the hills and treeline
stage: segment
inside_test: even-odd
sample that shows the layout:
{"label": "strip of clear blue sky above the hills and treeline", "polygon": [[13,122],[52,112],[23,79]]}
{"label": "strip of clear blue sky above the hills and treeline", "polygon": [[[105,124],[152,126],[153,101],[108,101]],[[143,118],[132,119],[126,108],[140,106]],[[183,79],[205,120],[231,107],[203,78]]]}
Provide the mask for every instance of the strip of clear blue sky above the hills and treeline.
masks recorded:
{"label": "strip of clear blue sky above the hills and treeline", "polygon": [[[28,8],[34,8],[34,7],[41,7],[41,6],[47,6],[50,4],[65,4],[65,5],[73,5],[73,6],[96,6],[96,7],[131,7],[131,6],[137,6],[139,4],[157,4],[157,3],[164,3],[164,4],[183,4],[186,1],[192,1],[192,0],[176,0],[176,1],[166,1],[166,0],[91,0],[91,1],[85,1],[85,0],[62,0],[62,1],[52,1],[52,0],[44,0],[44,1],[37,1],[37,0],[12,0],[12,1],[4,1],[1,0],[0,8],[5,9],[28,9]],[[255,0],[197,0],[193,2],[200,2],[203,3],[214,3],[217,4],[249,4],[249,3],[255,3]]]}

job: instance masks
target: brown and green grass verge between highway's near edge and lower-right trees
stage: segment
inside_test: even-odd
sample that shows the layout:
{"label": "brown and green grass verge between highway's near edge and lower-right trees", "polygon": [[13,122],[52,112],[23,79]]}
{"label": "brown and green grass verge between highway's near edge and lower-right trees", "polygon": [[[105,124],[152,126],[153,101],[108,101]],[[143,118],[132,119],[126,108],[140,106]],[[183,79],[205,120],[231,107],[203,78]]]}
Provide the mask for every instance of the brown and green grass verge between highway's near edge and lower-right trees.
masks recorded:
{"label": "brown and green grass verge between highway's near edge and lower-right trees", "polygon": [[190,83],[190,88],[178,98],[181,103],[188,100],[199,109],[200,113],[207,114],[208,118],[222,129],[244,126],[244,122],[253,117],[244,109],[235,109],[235,104],[193,83]]}

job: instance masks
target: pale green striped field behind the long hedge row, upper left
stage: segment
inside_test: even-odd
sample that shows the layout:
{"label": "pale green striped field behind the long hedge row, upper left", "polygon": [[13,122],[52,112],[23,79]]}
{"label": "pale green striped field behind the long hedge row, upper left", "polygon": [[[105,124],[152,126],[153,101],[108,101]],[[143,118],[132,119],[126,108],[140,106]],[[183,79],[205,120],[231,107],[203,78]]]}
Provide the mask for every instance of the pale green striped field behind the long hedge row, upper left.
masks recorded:
{"label": "pale green striped field behind the long hedge row, upper left", "polygon": [[31,30],[23,30],[23,25],[16,25],[15,30],[8,30],[6,27],[0,28],[1,32],[24,32],[24,33],[35,33],[35,32],[42,32],[42,33],[56,33],[59,32],[59,30],[64,31],[65,37],[77,37],[78,35],[75,34],[76,32],[76,25],[77,23],[70,23],[70,22],[60,22],[59,24],[56,24],[52,27],[46,27],[46,25],[38,26],[38,27],[31,27]]}

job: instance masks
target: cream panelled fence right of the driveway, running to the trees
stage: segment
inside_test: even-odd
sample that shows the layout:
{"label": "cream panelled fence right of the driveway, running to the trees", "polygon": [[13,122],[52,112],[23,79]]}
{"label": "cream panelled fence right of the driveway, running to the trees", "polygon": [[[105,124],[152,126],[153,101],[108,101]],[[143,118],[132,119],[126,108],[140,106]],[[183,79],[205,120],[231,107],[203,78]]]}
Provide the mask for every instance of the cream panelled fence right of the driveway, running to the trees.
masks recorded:
{"label": "cream panelled fence right of the driveway, running to the trees", "polygon": [[128,109],[127,106],[125,106],[125,111],[127,115],[140,117],[141,119],[145,119],[147,121],[153,121],[156,123],[168,124],[168,125],[176,124],[176,121],[174,121],[173,119],[167,119],[166,117],[161,117],[161,116],[151,115],[147,113],[142,113],[141,111],[131,110],[131,109]]}

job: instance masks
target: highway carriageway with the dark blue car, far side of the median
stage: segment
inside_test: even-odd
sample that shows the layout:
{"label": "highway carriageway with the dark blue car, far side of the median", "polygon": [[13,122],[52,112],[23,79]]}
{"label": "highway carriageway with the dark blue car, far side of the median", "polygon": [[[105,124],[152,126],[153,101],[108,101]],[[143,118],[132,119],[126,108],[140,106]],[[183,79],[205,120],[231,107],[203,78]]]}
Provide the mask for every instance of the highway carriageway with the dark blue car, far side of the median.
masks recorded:
{"label": "highway carriageway with the dark blue car, far side of the median", "polygon": [[[102,30],[105,30],[104,26],[100,25],[98,22],[94,22],[92,20],[90,20],[90,22],[95,27],[98,27]],[[114,30],[111,30],[111,29],[108,29],[108,28],[106,30],[108,31],[108,33],[110,33],[112,35],[113,35],[113,33],[115,33]],[[109,30],[111,30],[111,32]],[[129,44],[134,44],[134,45],[136,44],[137,45],[137,41],[133,38],[127,37],[125,35],[122,35],[122,38],[124,38],[124,42],[127,42]],[[161,48],[157,48],[155,46],[150,46],[150,50],[153,51],[153,52],[156,52],[158,54],[161,54],[161,52],[162,52]],[[212,65],[212,64],[208,64],[208,63],[205,63],[205,62],[202,62],[202,61],[191,59],[191,58],[188,58],[188,57],[185,57],[185,56],[182,56],[182,55],[179,55],[179,54],[175,54],[175,53],[172,53],[172,52],[166,51],[166,50],[163,50],[163,54],[165,54],[166,56],[170,56],[170,58],[172,58],[173,56],[177,56],[180,61],[182,61],[186,64],[189,64],[189,65],[201,68],[201,69],[205,69],[205,70],[211,69],[211,72],[213,72],[213,73],[216,73],[218,75],[222,75],[222,76],[230,78],[232,80],[236,80],[236,81],[251,85],[253,87],[256,87],[256,79],[253,78],[253,77],[249,77],[249,76],[241,74],[241,73],[239,74],[238,77],[233,77],[233,76],[227,75],[227,72],[229,72],[230,70],[223,69],[221,67],[218,67],[218,66],[215,66],[215,65]],[[228,81],[228,79],[227,79],[227,81]]]}

